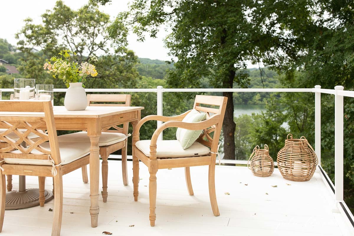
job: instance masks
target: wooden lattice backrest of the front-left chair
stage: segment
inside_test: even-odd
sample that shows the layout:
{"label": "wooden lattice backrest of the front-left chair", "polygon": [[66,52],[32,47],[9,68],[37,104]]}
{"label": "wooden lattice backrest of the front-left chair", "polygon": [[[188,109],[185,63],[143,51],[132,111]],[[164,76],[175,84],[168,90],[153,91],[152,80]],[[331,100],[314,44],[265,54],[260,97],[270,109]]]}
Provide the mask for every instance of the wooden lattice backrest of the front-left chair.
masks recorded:
{"label": "wooden lattice backrest of the front-left chair", "polygon": [[[10,115],[8,112],[15,114]],[[0,127],[7,129],[0,133],[0,139],[8,144],[0,148],[1,158],[45,160],[51,155],[56,164],[61,162],[51,101],[0,101]],[[48,133],[42,129],[47,129]],[[18,136],[16,141],[7,137],[12,132]],[[30,133],[36,134],[39,138],[35,140],[28,138]],[[47,141],[50,150],[41,146]],[[23,142],[26,145],[23,146]],[[10,152],[13,149],[17,151]],[[32,153],[34,150],[39,151],[39,154]]]}

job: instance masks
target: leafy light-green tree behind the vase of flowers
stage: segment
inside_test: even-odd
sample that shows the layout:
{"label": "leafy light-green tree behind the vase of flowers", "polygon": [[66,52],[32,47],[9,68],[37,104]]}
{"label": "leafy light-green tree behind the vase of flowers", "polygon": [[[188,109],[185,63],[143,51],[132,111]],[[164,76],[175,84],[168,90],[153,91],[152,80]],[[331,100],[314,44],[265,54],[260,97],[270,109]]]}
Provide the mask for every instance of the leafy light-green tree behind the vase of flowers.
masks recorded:
{"label": "leafy light-green tree behind the vase of flowers", "polygon": [[109,15],[99,11],[93,1],[77,11],[57,1],[52,10],[42,15],[42,21],[36,25],[32,19],[26,19],[25,26],[16,35],[18,49],[25,54],[19,67],[25,77],[36,78],[37,83],[64,87],[61,81],[53,81],[42,65],[45,59],[69,49],[76,52],[74,59],[79,63],[93,54],[99,57],[98,76],[88,80],[87,86],[121,88],[135,85],[139,78],[135,69],[138,61],[134,53],[126,49],[127,28],[119,18],[110,21]]}

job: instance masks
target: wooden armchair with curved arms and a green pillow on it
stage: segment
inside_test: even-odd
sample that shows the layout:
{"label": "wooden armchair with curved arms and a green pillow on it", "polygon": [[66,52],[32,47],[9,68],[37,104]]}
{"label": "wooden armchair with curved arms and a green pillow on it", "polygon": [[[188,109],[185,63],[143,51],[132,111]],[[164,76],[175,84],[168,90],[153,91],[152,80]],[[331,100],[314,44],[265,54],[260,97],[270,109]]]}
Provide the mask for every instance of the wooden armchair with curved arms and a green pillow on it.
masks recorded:
{"label": "wooden armchair with curved arms and a green pillow on it", "polygon": [[[207,119],[204,121],[196,123],[183,122],[183,118],[191,111],[189,110],[182,115],[172,117],[158,115],[146,116],[137,124],[133,131],[133,196],[134,200],[137,201],[139,194],[139,160],[141,160],[148,166],[150,173],[149,219],[151,226],[155,225],[156,219],[156,173],[158,169],[184,167],[188,192],[190,195],[194,195],[189,167],[209,165],[210,203],[214,215],[220,215],[215,194],[215,161],[218,153],[218,143],[224,120],[226,103],[227,97],[197,95],[195,97],[193,109],[207,113]],[[218,108],[205,107],[205,105],[217,106]],[[211,113],[213,113],[213,115],[211,115]],[[139,140],[139,129],[143,123],[149,120],[159,120],[165,123],[155,130],[151,140]],[[192,146],[183,149],[178,140],[158,140],[160,133],[169,127],[190,130],[203,129],[204,131]],[[212,132],[214,133],[213,136],[210,135]]]}

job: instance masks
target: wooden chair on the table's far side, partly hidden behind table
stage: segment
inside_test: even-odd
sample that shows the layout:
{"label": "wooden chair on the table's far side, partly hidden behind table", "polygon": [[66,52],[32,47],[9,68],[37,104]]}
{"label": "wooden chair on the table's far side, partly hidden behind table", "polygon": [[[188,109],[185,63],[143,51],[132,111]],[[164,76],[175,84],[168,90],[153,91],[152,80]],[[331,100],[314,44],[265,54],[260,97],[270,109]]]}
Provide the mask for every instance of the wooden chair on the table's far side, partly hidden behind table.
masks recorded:
{"label": "wooden chair on the table's far side, partly hidden behind table", "polygon": [[[129,107],[131,102],[130,94],[87,94],[87,105],[89,106],[108,106],[108,107]],[[119,122],[117,122],[119,123]],[[113,128],[113,130],[109,130]],[[99,138],[99,154],[102,158],[102,198],[103,202],[107,202],[107,182],[108,182],[108,157],[112,152],[122,149],[122,177],[123,184],[128,185],[127,171],[127,138],[128,138],[129,122],[124,123],[123,127],[114,125],[106,127],[102,130]],[[90,143],[86,132],[77,132],[73,134],[65,134],[58,137],[59,142],[71,140],[72,142]],[[89,181],[87,176],[87,167],[82,167],[82,180],[84,183]]]}

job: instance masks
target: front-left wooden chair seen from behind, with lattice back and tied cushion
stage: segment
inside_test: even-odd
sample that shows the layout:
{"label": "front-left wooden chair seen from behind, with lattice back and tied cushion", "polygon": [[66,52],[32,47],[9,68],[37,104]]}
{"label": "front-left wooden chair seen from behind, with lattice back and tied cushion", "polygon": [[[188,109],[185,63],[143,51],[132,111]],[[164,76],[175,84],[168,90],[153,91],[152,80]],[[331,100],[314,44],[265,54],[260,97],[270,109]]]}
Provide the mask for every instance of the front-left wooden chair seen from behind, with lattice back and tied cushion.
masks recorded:
{"label": "front-left wooden chair seen from behind, with lattice back and tied cushion", "polygon": [[[45,177],[48,176],[53,177],[56,190],[52,236],[59,236],[63,208],[62,175],[89,163],[90,145],[58,143],[51,101],[0,101],[0,127],[6,129],[0,133],[0,140],[9,144],[0,148],[0,229],[5,212],[5,174],[38,176],[40,206],[44,206]],[[8,137],[12,132],[19,137],[17,140]],[[30,133],[35,133],[39,139],[30,139]],[[26,145],[22,145],[23,142]]]}

